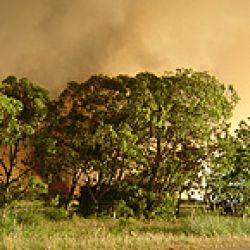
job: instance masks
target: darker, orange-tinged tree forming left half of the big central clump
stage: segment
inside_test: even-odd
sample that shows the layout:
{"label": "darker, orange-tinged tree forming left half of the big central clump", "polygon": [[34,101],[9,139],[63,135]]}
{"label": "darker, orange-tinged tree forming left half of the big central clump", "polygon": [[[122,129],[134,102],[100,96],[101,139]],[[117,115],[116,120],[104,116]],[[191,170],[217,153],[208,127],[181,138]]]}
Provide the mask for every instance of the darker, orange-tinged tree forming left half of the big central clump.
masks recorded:
{"label": "darker, orange-tinged tree forming left half of the big central clump", "polygon": [[93,76],[82,84],[70,82],[54,103],[44,133],[55,142],[55,154],[42,153],[38,145],[36,156],[48,164],[42,167],[48,174],[70,176],[66,208],[81,178],[89,197],[88,210],[99,207],[114,182],[128,173],[125,161],[133,156],[136,138],[121,112],[125,92],[119,79]]}

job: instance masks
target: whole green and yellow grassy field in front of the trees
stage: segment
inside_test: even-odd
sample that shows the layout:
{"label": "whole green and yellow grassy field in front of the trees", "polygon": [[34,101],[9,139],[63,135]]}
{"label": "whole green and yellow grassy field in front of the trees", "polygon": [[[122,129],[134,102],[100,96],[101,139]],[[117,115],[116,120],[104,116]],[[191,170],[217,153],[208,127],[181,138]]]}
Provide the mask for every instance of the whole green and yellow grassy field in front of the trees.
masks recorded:
{"label": "whole green and yellow grassy field in front of the trees", "polygon": [[250,220],[92,218],[34,204],[2,209],[0,249],[216,249],[250,246]]}

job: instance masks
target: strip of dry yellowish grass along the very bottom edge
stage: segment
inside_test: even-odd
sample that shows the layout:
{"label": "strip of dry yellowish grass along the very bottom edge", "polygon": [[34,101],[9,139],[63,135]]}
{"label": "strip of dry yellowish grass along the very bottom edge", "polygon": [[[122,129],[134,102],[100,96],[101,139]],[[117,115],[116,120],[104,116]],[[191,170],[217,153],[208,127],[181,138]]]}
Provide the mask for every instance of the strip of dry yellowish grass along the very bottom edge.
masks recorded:
{"label": "strip of dry yellowish grass along the very bottom edge", "polygon": [[250,246],[247,237],[207,238],[150,233],[118,236],[97,233],[80,238],[44,235],[28,239],[19,234],[10,234],[1,243],[1,249],[219,249],[247,246]]}

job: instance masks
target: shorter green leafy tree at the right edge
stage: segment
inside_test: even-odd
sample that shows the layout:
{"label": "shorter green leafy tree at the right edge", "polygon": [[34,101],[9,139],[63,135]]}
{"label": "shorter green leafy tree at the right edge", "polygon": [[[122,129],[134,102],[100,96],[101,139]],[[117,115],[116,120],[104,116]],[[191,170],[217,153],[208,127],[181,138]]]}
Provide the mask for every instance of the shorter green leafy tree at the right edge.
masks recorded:
{"label": "shorter green leafy tree at the right edge", "polygon": [[243,214],[249,202],[249,125],[242,121],[235,135],[229,127],[218,133],[208,190],[226,213]]}

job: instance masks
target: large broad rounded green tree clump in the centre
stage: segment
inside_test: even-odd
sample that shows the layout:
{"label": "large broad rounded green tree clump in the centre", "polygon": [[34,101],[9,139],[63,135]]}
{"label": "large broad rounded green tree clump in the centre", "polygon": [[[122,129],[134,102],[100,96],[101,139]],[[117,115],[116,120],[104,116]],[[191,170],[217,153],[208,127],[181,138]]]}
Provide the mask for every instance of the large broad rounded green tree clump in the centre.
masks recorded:
{"label": "large broad rounded green tree clump in the centre", "polygon": [[[84,211],[123,200],[149,216],[166,197],[176,201],[197,181],[211,137],[237,100],[231,86],[190,69],[71,82],[55,102],[46,132],[56,153],[42,162],[71,176],[67,201],[82,178]],[[144,204],[137,206],[139,199]]]}

